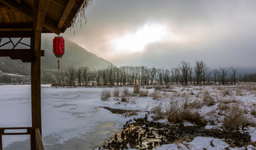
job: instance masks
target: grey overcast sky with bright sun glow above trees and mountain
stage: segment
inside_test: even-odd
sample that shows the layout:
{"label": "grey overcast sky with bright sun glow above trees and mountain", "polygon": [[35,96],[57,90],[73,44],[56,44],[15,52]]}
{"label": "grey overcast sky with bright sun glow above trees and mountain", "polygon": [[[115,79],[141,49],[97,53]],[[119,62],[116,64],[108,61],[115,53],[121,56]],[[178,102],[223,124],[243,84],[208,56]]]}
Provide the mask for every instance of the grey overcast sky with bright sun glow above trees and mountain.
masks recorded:
{"label": "grey overcast sky with bright sun glow above trees and mountain", "polygon": [[93,0],[65,38],[114,65],[255,68],[255,0]]}

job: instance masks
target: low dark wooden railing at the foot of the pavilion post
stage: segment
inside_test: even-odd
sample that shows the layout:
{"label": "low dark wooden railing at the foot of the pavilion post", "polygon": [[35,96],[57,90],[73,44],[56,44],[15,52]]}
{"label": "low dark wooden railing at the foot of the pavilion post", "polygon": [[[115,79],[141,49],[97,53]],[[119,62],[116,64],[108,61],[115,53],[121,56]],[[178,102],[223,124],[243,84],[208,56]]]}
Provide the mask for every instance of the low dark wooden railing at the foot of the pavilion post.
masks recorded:
{"label": "low dark wooden railing at the foot of the pavilion post", "polygon": [[[3,135],[32,135],[32,127],[5,127],[0,128],[0,150],[3,150]],[[32,136],[31,136],[32,137]],[[40,130],[35,129],[36,150],[44,150]]]}

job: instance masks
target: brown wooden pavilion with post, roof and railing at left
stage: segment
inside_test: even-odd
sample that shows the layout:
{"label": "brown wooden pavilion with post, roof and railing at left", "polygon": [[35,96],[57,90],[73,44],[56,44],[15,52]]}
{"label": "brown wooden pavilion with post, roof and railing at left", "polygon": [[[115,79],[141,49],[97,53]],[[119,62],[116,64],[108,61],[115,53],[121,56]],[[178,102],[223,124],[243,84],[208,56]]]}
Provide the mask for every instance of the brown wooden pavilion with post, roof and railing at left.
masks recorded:
{"label": "brown wooden pavilion with post, roof and railing at left", "polygon": [[[32,127],[0,128],[0,150],[3,135],[30,134],[31,149],[44,149],[41,139],[41,33],[65,32],[81,18],[91,0],[0,0],[0,57],[31,63]],[[12,38],[18,38],[14,42]],[[30,44],[23,43],[29,38]],[[11,44],[12,48],[6,48]],[[17,49],[17,45],[26,45]],[[6,133],[6,130],[26,132]]]}

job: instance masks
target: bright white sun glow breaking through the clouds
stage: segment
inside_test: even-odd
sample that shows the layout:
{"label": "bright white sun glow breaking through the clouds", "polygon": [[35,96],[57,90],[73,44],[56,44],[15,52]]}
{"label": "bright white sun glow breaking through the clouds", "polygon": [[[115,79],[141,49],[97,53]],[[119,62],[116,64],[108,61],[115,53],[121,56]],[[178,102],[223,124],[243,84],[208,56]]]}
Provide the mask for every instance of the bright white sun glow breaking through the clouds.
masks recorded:
{"label": "bright white sun glow breaking through the clouds", "polygon": [[124,36],[114,38],[111,43],[116,52],[142,52],[149,43],[162,41],[167,35],[164,25],[147,25],[140,28],[136,33],[127,33]]}

